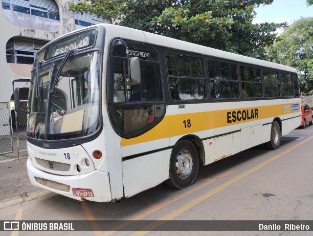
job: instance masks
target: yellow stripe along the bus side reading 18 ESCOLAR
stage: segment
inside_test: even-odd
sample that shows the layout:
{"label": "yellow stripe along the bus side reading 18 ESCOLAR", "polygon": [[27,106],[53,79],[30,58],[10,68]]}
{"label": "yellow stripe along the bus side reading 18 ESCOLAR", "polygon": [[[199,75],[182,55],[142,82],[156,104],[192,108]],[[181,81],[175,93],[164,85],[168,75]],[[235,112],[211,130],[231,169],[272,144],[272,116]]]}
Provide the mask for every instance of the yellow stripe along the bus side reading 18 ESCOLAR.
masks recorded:
{"label": "yellow stripe along the bus side reading 18 ESCOLAR", "polygon": [[122,147],[125,147],[162,138],[299,112],[300,103],[293,104],[298,105],[297,110],[292,110],[291,104],[280,104],[169,115],[165,116],[155,128],[138,137],[131,139],[121,138],[121,143]]}

